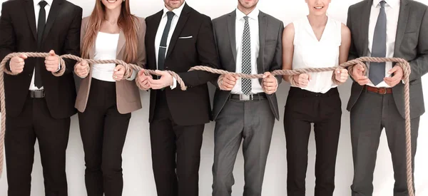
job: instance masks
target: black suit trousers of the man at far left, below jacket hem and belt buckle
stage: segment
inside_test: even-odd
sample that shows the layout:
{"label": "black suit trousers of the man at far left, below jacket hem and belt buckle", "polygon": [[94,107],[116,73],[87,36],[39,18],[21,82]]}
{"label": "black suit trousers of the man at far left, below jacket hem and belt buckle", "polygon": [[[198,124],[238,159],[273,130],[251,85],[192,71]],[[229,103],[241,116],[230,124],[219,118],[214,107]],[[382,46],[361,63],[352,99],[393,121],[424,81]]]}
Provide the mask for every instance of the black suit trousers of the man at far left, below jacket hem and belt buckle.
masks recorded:
{"label": "black suit trousers of the man at far left, below jacket hem and belt buckle", "polygon": [[6,170],[9,196],[30,196],[34,144],[39,142],[46,196],[66,196],[66,148],[70,118],[55,119],[44,98],[27,97],[22,113],[6,116]]}

